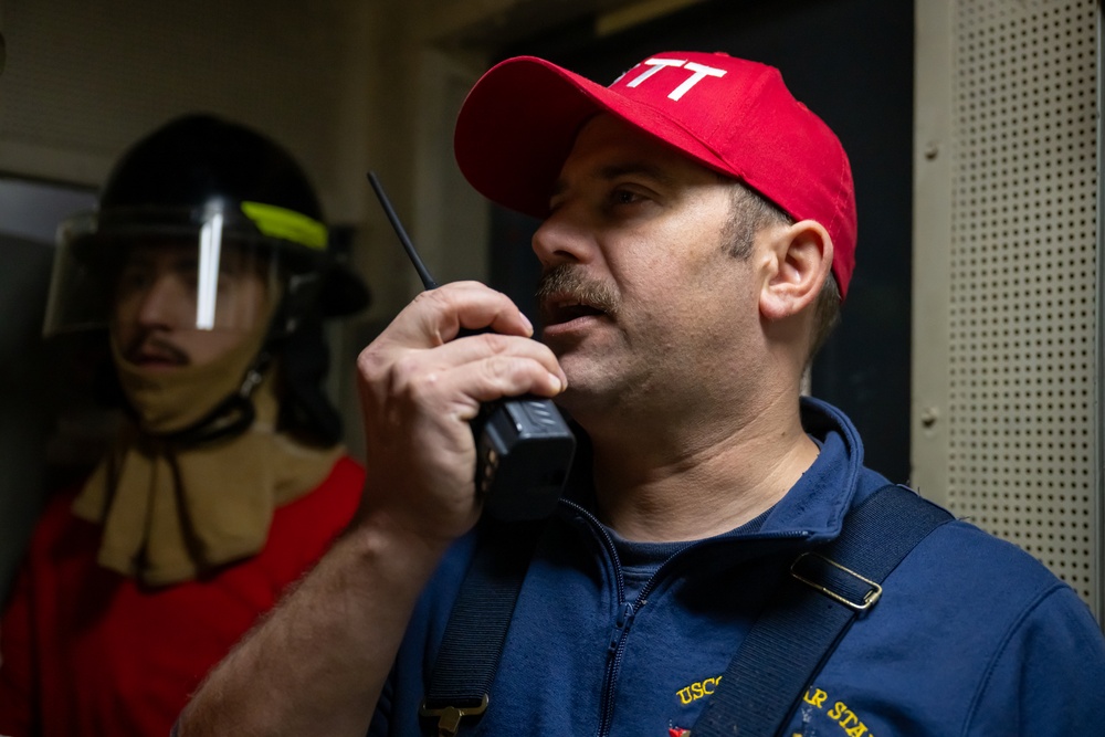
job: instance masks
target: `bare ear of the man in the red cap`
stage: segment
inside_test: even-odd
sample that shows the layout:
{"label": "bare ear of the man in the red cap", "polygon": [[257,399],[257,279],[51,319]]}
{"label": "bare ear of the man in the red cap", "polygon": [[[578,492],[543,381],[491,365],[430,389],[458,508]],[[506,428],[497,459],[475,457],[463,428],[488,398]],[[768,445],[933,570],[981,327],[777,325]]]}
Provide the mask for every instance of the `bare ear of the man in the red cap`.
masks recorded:
{"label": "bare ear of the man in the red cap", "polygon": [[829,278],[832,239],[815,220],[772,229],[764,235],[760,314],[767,319],[797,315],[813,304]]}

